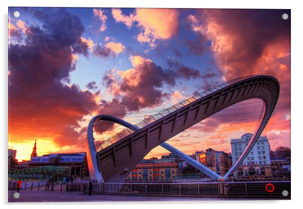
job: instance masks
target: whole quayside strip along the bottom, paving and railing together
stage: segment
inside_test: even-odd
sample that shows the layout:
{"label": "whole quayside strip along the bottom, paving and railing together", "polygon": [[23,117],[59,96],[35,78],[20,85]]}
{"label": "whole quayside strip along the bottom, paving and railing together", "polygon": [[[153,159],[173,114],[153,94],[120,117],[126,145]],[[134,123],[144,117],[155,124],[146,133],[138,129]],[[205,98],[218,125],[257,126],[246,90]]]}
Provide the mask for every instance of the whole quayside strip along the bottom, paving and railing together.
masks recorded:
{"label": "whole quayside strip along the bottom, paving and railing together", "polygon": [[[268,186],[267,186],[268,185]],[[274,186],[272,186],[274,185]],[[290,199],[290,181],[208,182],[208,183],[93,183],[88,195],[87,182],[9,189],[9,202],[53,201],[200,201]],[[286,194],[285,195],[285,191]],[[18,198],[16,198],[16,196]]]}

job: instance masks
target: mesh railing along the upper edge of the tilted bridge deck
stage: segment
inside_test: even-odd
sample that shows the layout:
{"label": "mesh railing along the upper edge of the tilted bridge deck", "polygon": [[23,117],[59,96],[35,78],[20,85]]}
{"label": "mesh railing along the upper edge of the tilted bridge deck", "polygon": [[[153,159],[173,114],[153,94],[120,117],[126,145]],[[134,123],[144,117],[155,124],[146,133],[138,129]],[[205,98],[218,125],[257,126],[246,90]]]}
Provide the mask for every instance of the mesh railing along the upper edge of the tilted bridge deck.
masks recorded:
{"label": "mesh railing along the upper edge of the tilted bridge deck", "polygon": [[[193,96],[191,96],[189,98],[186,98],[183,101],[180,101],[180,102],[174,104],[173,106],[171,106],[171,107],[169,107],[169,108],[167,108],[167,109],[165,109],[165,110],[163,110],[163,111],[161,111],[161,112],[159,112],[159,113],[157,113],[157,114],[155,114],[153,116],[150,116],[150,117],[144,119],[143,121],[141,121],[141,122],[139,122],[139,123],[137,123],[135,125],[138,128],[141,129],[141,128],[147,126],[148,124],[151,124],[151,123],[153,123],[153,122],[155,122],[155,121],[163,118],[164,116],[166,116],[166,115],[168,115],[168,114],[170,114],[170,113],[172,113],[172,112],[174,112],[174,111],[176,111],[176,110],[178,110],[178,109],[186,106],[187,104],[189,104],[191,102],[194,102],[195,100],[197,100],[199,98],[202,98],[202,97],[204,97],[204,96],[206,96],[206,95],[208,95],[210,93],[213,93],[213,92],[215,92],[215,91],[217,91],[217,90],[219,90],[221,88],[224,88],[226,86],[234,84],[234,83],[236,83],[238,81],[247,79],[249,77],[256,77],[256,76],[258,76],[258,75],[248,75],[248,76],[244,76],[244,77],[241,77],[241,78],[236,78],[236,79],[233,79],[233,80],[221,83],[221,84],[219,84],[217,86],[211,87],[211,88],[209,88],[209,89],[207,89],[205,91],[197,93],[197,94],[195,94],[195,95],[193,95]],[[99,152],[99,151],[105,149],[106,147],[114,144],[115,142],[123,139],[124,137],[132,134],[133,132],[134,131],[131,130],[131,129],[124,129],[123,131],[119,132],[118,134],[116,134],[116,135],[114,135],[114,136],[112,136],[112,137],[104,140],[101,143],[96,144],[95,146],[93,146],[91,148],[93,150]]]}

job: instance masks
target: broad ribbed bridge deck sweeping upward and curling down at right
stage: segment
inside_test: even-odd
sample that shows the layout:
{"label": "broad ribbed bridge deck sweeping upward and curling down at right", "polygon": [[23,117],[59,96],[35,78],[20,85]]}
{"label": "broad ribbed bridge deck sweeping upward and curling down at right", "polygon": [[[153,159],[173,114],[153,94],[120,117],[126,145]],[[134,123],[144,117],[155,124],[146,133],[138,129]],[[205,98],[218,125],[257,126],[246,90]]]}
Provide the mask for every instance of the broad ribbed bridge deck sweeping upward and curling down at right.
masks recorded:
{"label": "broad ribbed bridge deck sweeping upward and curling down at right", "polygon": [[[161,114],[160,118],[157,118],[156,114],[150,123],[148,122],[150,119],[145,119],[144,125],[142,123],[136,125],[139,128],[137,131],[120,134],[122,137],[112,144],[105,146],[108,142],[97,145],[87,143],[87,150],[96,152],[95,156],[88,156],[88,159],[89,157],[97,158],[97,166],[94,165],[94,167],[102,173],[104,181],[124,182],[130,170],[153,148],[235,103],[250,98],[260,98],[265,104],[262,121],[239,160],[222,177],[227,179],[241,166],[260,137],[274,111],[279,92],[279,82],[272,76],[251,75],[225,82],[187,98],[182,101],[183,103],[179,102],[178,104],[182,104],[181,108],[178,108],[176,104],[172,106],[176,110],[170,109],[172,107],[166,109],[168,114]],[[94,118],[90,122],[91,127],[98,117]],[[90,125],[88,140],[94,142]]]}

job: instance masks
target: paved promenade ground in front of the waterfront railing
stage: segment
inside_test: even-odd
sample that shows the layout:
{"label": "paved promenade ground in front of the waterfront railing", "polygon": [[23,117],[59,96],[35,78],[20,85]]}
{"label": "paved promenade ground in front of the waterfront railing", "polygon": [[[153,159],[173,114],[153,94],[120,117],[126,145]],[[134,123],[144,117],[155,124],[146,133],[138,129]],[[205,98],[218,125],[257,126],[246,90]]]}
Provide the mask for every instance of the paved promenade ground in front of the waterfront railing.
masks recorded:
{"label": "paved promenade ground in front of the waterfront railing", "polygon": [[[265,200],[268,198],[218,198],[218,197],[170,197],[170,196],[135,196],[112,194],[83,194],[82,192],[66,192],[65,185],[60,192],[60,185],[54,191],[45,191],[44,187],[20,190],[20,197],[15,198],[16,190],[9,190],[9,202],[79,202],[79,201],[203,201],[203,200]],[[275,198],[276,199],[276,198]],[[282,199],[282,198],[281,198]]]}

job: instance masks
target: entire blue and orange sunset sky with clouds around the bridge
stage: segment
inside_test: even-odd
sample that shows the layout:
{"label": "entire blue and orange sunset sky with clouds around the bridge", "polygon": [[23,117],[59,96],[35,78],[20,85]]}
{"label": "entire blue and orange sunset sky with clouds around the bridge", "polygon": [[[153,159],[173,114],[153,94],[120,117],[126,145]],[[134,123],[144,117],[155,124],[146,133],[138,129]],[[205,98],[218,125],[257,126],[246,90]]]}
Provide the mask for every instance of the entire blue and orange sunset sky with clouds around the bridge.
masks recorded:
{"label": "entire blue and orange sunset sky with clouds around the bridge", "polygon": [[[38,155],[85,151],[97,114],[136,124],[250,74],[279,80],[262,136],[271,149],[290,147],[290,17],[290,10],[9,8],[9,148],[19,161],[30,158],[35,139]],[[235,104],[168,143],[187,154],[231,152],[231,138],[254,130],[261,107],[260,99]],[[105,125],[100,138],[121,129]],[[157,147],[146,157],[167,153]]]}

